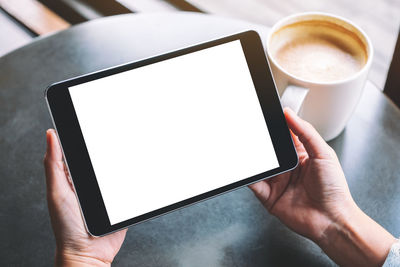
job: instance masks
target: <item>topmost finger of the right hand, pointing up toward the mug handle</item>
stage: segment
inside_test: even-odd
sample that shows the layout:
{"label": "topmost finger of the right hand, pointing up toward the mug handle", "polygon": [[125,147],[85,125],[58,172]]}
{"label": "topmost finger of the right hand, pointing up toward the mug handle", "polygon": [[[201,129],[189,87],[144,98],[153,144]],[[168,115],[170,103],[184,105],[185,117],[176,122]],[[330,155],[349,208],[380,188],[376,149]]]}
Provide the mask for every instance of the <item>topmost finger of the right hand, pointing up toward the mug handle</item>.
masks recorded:
{"label": "topmost finger of the right hand, pointing up toward the mug handle", "polygon": [[310,123],[302,120],[289,108],[285,108],[284,113],[290,130],[298,136],[310,157],[329,154],[330,147]]}

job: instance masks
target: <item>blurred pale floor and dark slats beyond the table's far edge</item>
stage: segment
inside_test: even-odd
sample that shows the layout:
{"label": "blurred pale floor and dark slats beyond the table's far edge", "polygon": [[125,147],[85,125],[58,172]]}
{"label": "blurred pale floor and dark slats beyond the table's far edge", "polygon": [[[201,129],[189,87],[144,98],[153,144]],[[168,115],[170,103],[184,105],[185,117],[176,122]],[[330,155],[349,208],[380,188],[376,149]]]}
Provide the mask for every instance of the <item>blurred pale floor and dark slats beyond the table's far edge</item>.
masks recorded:
{"label": "blurred pale floor and dark slats beyond the table's far edge", "polygon": [[272,26],[297,12],[329,12],[370,36],[375,58],[369,79],[379,88],[385,86],[400,25],[399,0],[0,0],[0,8],[0,56],[38,36],[124,13],[194,11]]}

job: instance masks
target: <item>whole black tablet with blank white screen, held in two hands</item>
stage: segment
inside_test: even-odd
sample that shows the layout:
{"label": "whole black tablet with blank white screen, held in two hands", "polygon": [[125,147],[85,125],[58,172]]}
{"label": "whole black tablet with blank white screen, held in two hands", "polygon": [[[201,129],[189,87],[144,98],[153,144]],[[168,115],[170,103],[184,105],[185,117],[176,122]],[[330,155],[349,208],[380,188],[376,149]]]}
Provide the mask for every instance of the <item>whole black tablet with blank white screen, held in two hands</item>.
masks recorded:
{"label": "whole black tablet with blank white screen, held in two hands", "polygon": [[297,165],[254,31],[62,81],[45,96],[95,236]]}

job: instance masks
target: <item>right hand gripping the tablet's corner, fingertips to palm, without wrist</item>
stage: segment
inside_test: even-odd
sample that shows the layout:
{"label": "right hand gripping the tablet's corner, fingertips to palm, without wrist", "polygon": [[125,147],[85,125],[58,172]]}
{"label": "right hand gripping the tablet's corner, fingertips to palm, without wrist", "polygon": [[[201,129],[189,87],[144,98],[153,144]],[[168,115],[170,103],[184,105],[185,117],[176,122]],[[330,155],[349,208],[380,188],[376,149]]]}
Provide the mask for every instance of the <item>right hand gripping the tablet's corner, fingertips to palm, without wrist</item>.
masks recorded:
{"label": "right hand gripping the tablet's corner, fingertips to palm, without wrist", "polygon": [[309,123],[290,109],[284,112],[299,164],[250,188],[271,214],[297,233],[318,241],[354,201],[334,150]]}

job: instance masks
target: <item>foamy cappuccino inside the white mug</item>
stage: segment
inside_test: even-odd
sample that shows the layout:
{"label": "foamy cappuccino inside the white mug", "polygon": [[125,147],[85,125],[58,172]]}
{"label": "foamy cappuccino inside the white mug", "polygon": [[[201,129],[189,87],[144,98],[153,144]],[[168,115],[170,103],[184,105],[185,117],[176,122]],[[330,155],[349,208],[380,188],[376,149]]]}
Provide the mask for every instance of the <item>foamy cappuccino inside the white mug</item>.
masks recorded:
{"label": "foamy cappuccino inside the white mug", "polygon": [[284,70],[312,82],[344,80],[367,62],[362,40],[329,21],[301,21],[282,27],[269,43],[271,54]]}

